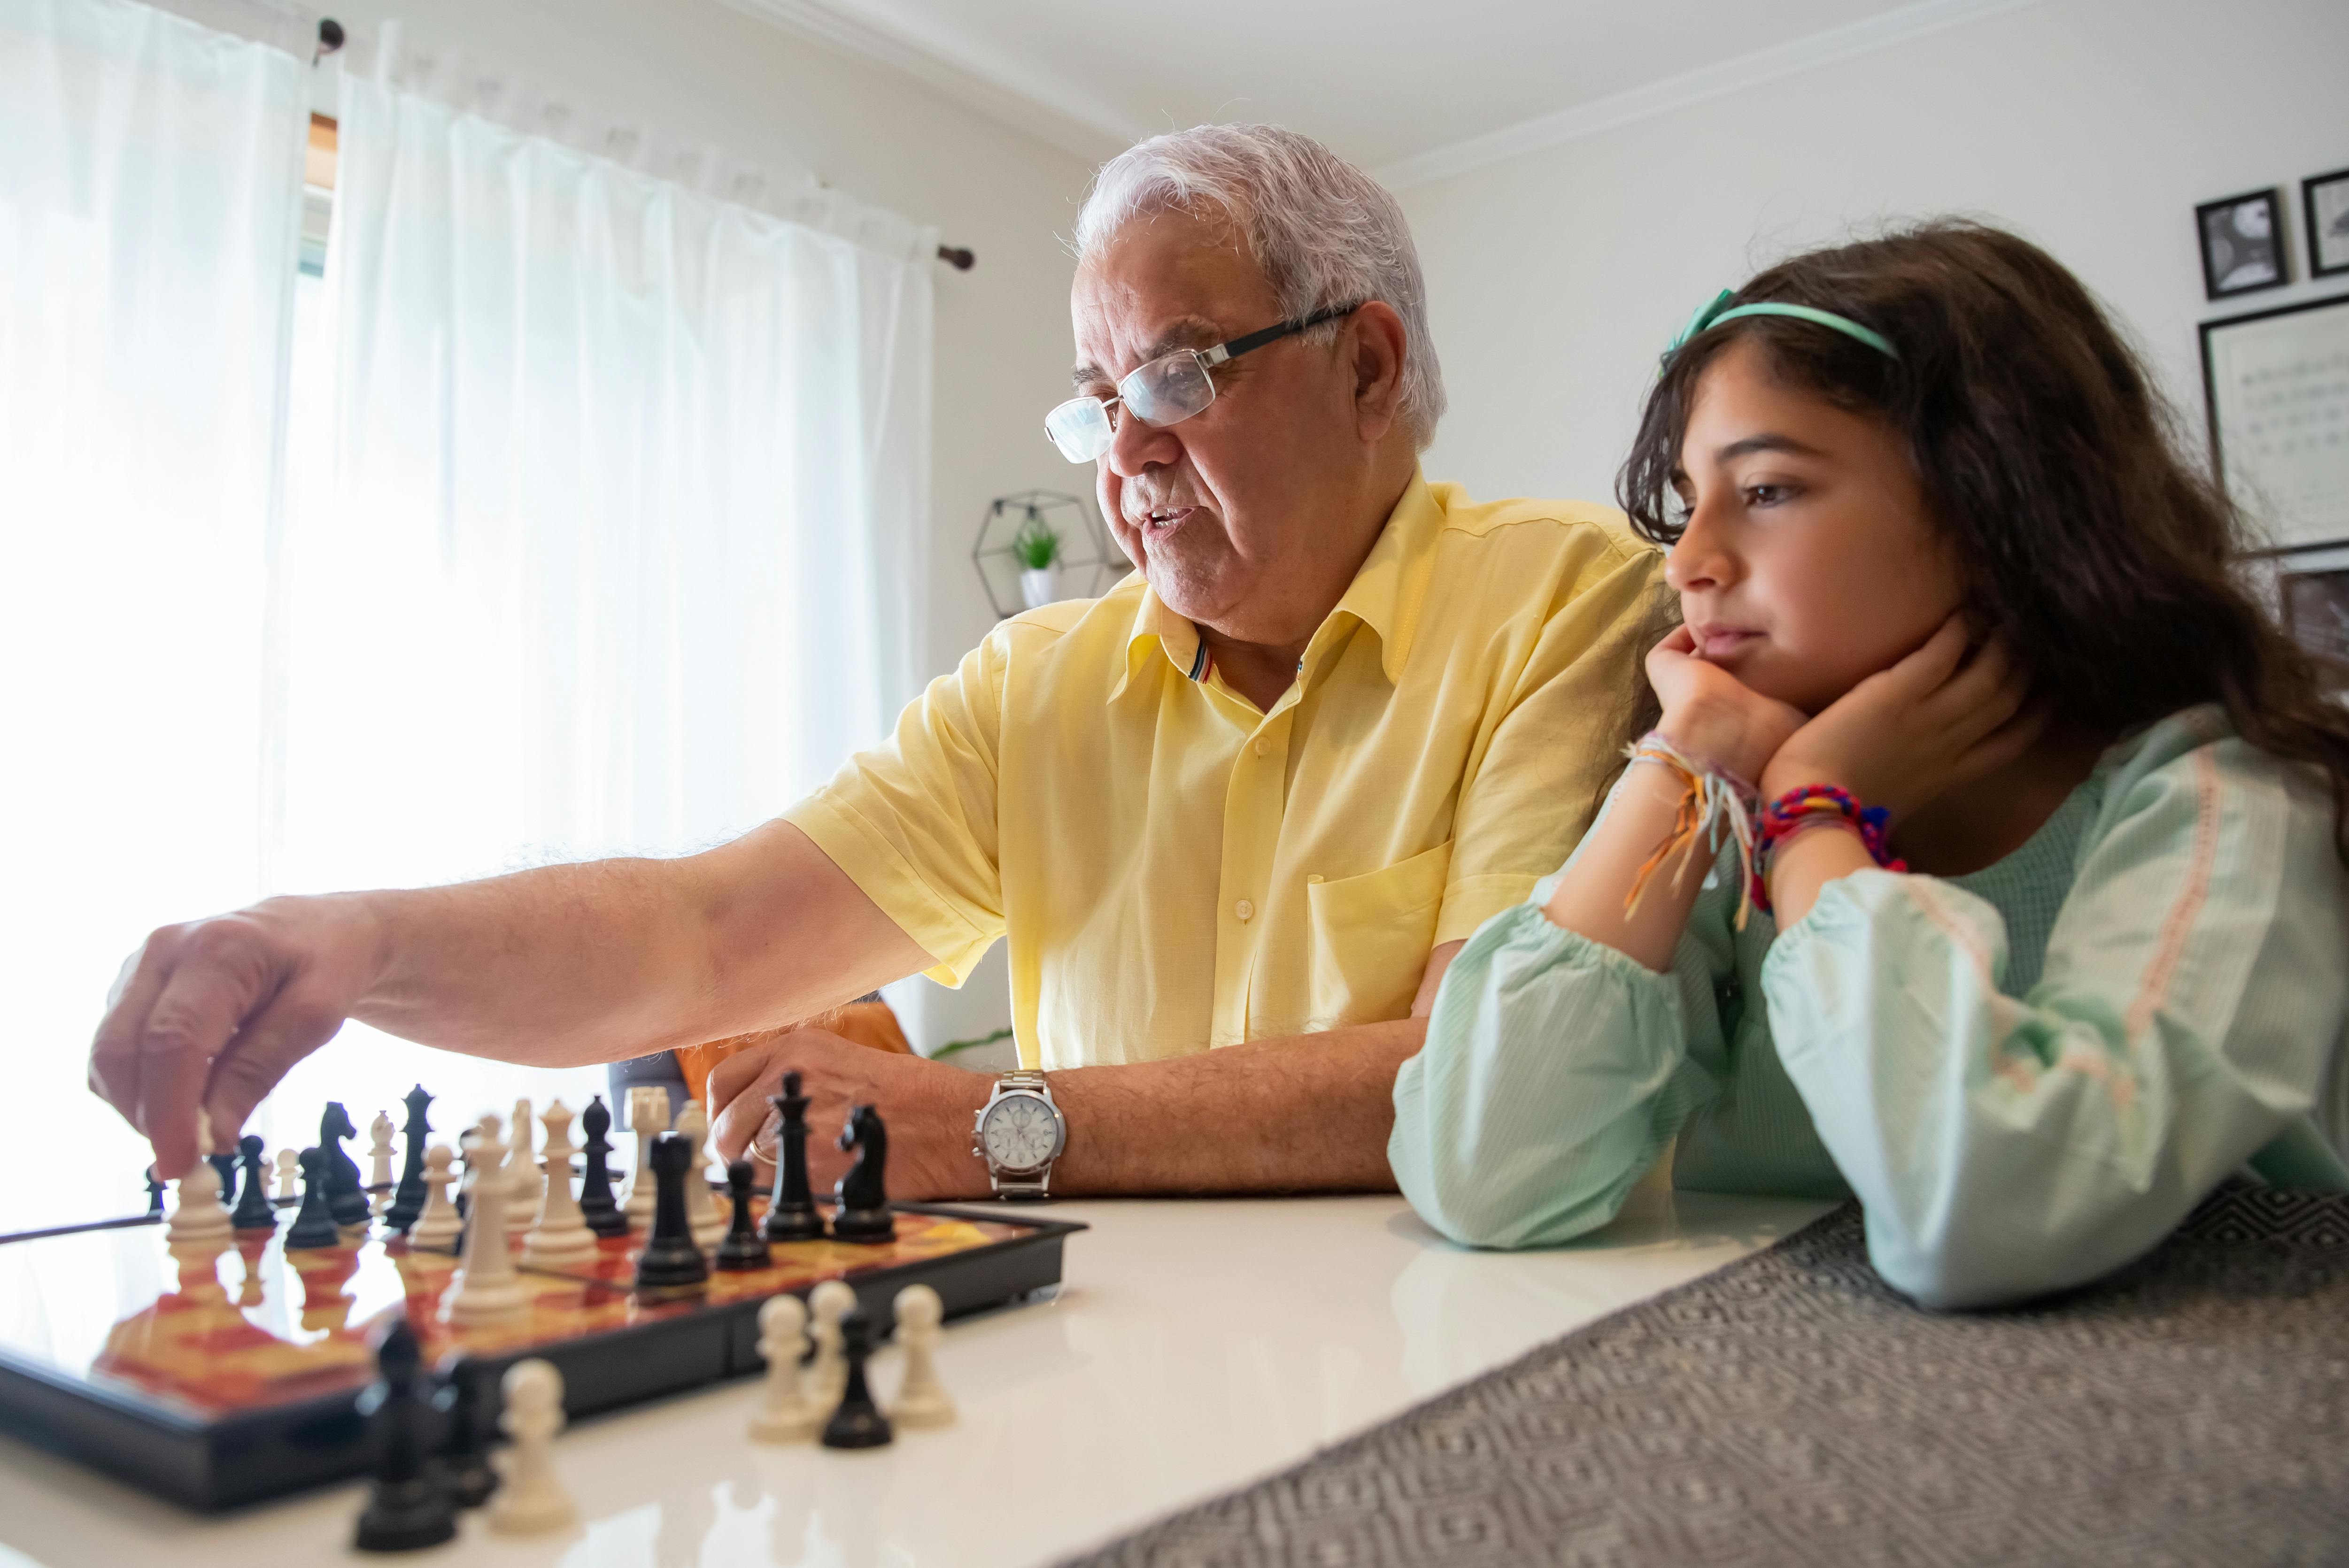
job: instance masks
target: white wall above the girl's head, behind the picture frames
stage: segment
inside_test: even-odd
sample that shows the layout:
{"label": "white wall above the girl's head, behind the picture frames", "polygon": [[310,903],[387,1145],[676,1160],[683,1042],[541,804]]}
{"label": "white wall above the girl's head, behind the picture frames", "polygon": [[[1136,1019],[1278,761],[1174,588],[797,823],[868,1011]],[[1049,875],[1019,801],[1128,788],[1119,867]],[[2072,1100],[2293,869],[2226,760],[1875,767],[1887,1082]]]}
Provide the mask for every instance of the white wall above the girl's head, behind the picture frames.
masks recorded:
{"label": "white wall above the girl's head, behind the picture frames", "polygon": [[1611,498],[1656,354],[1715,291],[1882,218],[1968,214],[2074,268],[2201,430],[2194,204],[2349,164],[2342,0],[2039,0],[1402,190],[1452,411],[1428,472]]}

